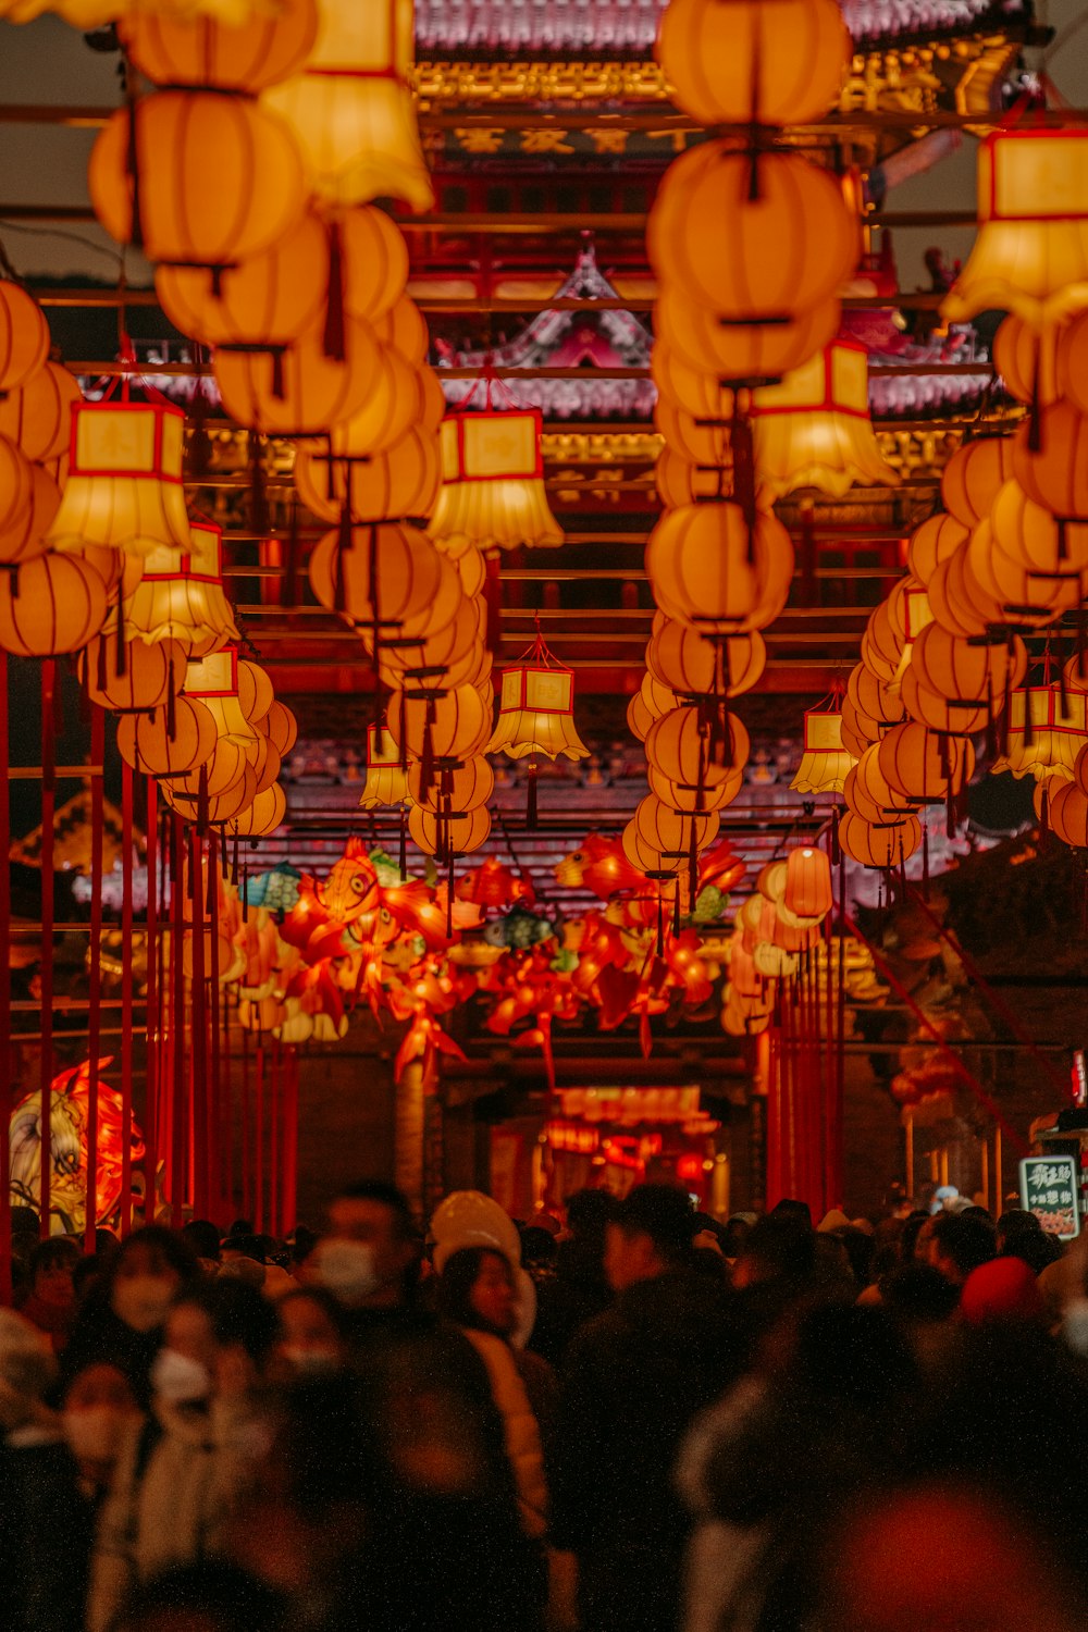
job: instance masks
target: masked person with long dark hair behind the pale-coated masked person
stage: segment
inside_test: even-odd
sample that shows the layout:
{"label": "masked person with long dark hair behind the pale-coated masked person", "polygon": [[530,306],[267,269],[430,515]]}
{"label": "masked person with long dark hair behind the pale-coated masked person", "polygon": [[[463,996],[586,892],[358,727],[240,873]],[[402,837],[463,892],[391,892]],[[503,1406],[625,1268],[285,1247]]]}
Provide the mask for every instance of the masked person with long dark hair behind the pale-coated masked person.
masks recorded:
{"label": "masked person with long dark hair behind the pale-coated masked person", "polygon": [[199,1279],[197,1260],[170,1229],[135,1231],[86,1294],[62,1356],[70,1381],[95,1361],[124,1373],[140,1408],[150,1405],[150,1368],[175,1296]]}

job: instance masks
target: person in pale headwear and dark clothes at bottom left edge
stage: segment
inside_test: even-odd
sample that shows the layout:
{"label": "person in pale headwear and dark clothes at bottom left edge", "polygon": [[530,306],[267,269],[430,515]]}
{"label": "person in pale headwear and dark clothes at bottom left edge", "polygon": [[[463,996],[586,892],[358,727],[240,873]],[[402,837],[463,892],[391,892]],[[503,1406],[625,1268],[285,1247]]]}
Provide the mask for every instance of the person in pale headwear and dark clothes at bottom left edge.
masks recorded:
{"label": "person in pale headwear and dark clothes at bottom left edge", "polygon": [[41,1333],[0,1309],[0,1580],[5,1632],[80,1632],[93,1514],[46,1394],[57,1363]]}

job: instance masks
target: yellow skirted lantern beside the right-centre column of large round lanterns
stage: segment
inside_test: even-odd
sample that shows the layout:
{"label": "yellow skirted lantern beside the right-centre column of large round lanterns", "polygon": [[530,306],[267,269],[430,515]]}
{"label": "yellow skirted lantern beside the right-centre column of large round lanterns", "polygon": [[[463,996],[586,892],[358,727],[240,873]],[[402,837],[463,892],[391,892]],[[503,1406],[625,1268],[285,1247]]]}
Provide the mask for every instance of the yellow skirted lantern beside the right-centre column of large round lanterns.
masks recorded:
{"label": "yellow skirted lantern beside the right-centre column of large round lanterns", "polygon": [[842,498],[855,481],[899,481],[876,446],[863,346],[835,341],[755,392],[752,419],[759,481],[775,496],[820,488]]}

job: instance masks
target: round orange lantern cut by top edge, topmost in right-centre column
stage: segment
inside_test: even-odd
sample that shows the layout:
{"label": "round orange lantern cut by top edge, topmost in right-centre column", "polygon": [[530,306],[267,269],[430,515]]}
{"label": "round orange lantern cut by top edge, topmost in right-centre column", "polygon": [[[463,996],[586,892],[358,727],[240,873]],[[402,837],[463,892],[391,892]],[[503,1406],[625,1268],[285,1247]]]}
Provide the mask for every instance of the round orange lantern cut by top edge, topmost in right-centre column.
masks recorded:
{"label": "round orange lantern cut by top edge, topmost in right-centre column", "polygon": [[834,0],[670,0],[657,60],[698,124],[807,124],[838,100],[850,34]]}

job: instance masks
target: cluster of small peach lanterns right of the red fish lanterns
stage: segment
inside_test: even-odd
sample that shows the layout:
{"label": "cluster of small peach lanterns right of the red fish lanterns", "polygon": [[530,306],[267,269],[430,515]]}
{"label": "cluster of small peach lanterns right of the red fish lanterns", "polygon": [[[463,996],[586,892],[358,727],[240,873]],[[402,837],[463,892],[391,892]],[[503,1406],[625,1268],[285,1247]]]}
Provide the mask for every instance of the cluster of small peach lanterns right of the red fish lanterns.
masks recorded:
{"label": "cluster of small peach lanterns right of the red fish lanterns", "polygon": [[825,850],[798,845],[785,860],[763,867],[729,942],[729,979],[721,1009],[724,1031],[757,1036],[768,1028],[778,982],[791,981],[801,956],[819,947],[832,906]]}

